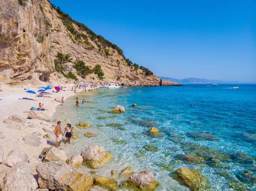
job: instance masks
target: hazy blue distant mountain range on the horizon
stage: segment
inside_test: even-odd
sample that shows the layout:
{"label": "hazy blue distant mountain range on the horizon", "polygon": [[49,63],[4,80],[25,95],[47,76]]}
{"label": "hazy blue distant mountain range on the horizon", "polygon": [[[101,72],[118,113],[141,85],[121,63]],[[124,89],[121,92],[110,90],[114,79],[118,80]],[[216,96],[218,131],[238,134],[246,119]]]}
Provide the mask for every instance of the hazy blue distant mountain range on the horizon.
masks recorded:
{"label": "hazy blue distant mountain range on the horizon", "polygon": [[172,82],[178,82],[181,84],[185,84],[185,83],[194,83],[194,84],[211,84],[211,83],[230,83],[230,84],[241,84],[241,83],[245,83],[245,82],[238,82],[238,81],[222,81],[222,80],[207,80],[207,79],[201,79],[201,78],[194,78],[194,77],[190,77],[190,78],[184,78],[184,79],[175,79],[175,78],[171,78],[171,77],[160,77],[161,79],[164,80],[169,80]]}

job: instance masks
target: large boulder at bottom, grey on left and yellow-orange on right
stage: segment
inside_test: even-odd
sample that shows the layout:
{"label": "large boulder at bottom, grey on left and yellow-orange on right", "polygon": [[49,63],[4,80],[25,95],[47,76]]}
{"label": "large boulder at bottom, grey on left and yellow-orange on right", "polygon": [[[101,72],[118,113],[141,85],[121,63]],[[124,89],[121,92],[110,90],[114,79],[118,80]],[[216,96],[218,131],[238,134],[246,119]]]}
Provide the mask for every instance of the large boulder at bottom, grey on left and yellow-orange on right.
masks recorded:
{"label": "large boulder at bottom, grey on left and yellow-orange on right", "polygon": [[65,162],[45,162],[36,168],[40,188],[51,191],[85,191],[93,185],[93,178]]}

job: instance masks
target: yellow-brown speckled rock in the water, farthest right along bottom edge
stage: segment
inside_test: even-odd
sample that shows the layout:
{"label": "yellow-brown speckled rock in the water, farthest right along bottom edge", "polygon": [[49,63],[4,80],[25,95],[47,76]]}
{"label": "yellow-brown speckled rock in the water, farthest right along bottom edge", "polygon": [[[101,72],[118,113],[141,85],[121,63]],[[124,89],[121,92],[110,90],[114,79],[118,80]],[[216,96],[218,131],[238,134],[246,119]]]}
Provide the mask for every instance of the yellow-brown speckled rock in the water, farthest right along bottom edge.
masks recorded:
{"label": "yellow-brown speckled rock in the water, farthest right along bottom edge", "polygon": [[211,189],[207,178],[197,169],[179,168],[175,173],[175,179],[192,191],[209,191]]}

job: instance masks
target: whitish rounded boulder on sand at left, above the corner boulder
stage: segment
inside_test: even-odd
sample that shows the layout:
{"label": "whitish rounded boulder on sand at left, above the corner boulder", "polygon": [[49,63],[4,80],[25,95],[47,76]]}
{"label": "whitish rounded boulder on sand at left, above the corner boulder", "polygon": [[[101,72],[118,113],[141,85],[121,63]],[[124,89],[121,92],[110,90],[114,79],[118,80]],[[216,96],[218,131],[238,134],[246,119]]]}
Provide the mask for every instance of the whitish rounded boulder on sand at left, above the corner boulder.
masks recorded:
{"label": "whitish rounded boulder on sand at left, above the corner boulder", "polygon": [[20,149],[13,149],[9,152],[6,159],[4,160],[4,164],[12,167],[16,162],[28,162],[29,157],[21,151]]}

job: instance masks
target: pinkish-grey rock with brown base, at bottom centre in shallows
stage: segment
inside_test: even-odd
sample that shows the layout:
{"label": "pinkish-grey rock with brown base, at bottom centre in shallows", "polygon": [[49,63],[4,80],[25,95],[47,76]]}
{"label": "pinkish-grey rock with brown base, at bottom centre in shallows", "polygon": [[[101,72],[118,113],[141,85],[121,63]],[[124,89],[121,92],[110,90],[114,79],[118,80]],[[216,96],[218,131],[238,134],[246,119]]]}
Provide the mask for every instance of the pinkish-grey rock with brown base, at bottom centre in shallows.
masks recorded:
{"label": "pinkish-grey rock with brown base, at bottom centre in shallows", "polygon": [[141,171],[139,174],[133,174],[122,184],[124,187],[131,187],[141,191],[152,191],[158,185],[159,183],[154,179],[151,171]]}

